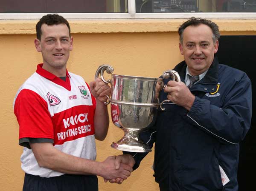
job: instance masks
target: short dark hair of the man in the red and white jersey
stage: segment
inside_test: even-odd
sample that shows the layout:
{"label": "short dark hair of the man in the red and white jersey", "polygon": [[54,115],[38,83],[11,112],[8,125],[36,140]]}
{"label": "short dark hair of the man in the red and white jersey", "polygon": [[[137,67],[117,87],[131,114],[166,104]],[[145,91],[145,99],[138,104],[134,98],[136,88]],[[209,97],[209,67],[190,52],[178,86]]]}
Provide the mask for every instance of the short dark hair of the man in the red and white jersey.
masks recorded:
{"label": "short dark hair of the man in the red and white jersey", "polygon": [[38,40],[41,40],[41,35],[42,35],[41,27],[43,24],[47,24],[47,25],[66,24],[69,31],[69,35],[70,35],[70,25],[64,17],[58,14],[47,14],[47,15],[44,15],[35,26],[36,37]]}

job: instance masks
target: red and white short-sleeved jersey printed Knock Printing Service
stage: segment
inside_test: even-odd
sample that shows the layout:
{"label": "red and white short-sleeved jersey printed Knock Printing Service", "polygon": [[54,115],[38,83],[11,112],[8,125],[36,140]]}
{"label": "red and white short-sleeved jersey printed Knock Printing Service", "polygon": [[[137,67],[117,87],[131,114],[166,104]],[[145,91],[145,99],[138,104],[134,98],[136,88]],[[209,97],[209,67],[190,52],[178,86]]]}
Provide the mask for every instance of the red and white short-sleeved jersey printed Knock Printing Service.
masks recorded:
{"label": "red and white short-sleeved jersey printed Knock Printing Service", "polygon": [[[64,81],[39,64],[14,100],[14,112],[20,126],[19,140],[53,140],[54,147],[64,153],[95,160],[95,107],[96,100],[82,77],[67,72]],[[24,148],[20,159],[21,168],[28,174],[40,177],[63,174],[40,167],[29,148]]]}

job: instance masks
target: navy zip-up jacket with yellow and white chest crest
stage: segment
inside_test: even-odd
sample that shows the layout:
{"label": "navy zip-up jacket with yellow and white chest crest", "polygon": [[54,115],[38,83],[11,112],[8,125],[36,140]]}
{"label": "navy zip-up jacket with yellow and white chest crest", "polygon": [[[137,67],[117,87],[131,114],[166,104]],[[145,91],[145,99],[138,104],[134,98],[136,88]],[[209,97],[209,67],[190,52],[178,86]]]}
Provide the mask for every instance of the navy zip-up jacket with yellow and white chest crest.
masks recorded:
{"label": "navy zip-up jacket with yellow and white chest crest", "polygon": [[[183,61],[174,68],[183,82],[186,67]],[[145,143],[155,142],[155,180],[170,177],[174,191],[238,191],[239,142],[252,117],[251,81],[243,71],[219,64],[215,57],[190,91],[195,95],[190,111],[163,104],[166,110],[158,109],[155,125],[140,134]],[[160,102],[166,99],[162,90]],[[146,154],[135,154],[134,169]],[[230,180],[224,186],[219,166]]]}

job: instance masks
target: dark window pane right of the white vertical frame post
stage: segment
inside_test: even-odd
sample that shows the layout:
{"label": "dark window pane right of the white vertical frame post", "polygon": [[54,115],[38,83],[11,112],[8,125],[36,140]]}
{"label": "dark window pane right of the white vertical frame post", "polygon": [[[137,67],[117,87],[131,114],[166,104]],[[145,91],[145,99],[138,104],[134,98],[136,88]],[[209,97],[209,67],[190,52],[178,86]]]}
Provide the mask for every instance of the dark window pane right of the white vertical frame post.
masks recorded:
{"label": "dark window pane right of the white vertical frame post", "polygon": [[255,0],[136,0],[137,13],[256,12]]}

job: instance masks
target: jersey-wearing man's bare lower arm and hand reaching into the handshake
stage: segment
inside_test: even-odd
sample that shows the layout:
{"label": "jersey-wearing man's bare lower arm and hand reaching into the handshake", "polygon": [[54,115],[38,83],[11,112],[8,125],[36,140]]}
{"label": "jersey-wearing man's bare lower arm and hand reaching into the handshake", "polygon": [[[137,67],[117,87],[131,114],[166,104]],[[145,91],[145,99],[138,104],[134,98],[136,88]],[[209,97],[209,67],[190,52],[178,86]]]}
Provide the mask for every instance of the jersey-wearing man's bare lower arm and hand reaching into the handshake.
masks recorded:
{"label": "jersey-wearing man's bare lower arm and hand reaching into the handshake", "polygon": [[51,143],[32,143],[30,146],[39,166],[64,174],[94,174],[107,179],[116,177],[126,179],[132,171],[128,165],[122,165],[121,169],[116,170],[115,157],[97,162],[63,153],[54,148]]}

